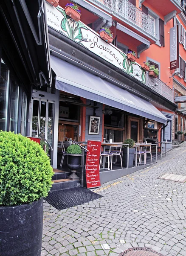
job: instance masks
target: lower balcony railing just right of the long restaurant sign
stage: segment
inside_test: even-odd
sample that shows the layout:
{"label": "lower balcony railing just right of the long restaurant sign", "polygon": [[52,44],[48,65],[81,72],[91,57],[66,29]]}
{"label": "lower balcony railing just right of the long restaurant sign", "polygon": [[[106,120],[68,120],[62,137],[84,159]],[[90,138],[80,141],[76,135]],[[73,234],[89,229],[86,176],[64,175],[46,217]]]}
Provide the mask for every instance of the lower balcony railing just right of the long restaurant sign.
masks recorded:
{"label": "lower balcony railing just right of the long restaurant sign", "polygon": [[[152,86],[154,84],[154,86]],[[155,85],[158,84],[158,85]],[[163,81],[159,78],[153,78],[149,76],[149,73],[146,72],[146,85],[151,87],[152,90],[155,90],[161,96],[165,97],[171,102],[174,102],[174,90],[169,88]]]}

